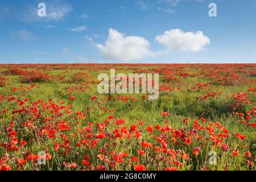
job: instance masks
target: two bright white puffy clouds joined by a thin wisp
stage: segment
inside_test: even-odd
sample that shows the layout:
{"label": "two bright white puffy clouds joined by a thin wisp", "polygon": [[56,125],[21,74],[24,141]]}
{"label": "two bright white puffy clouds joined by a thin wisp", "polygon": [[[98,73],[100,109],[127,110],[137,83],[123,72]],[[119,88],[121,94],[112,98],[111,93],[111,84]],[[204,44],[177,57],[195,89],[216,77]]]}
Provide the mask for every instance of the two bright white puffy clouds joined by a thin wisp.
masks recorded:
{"label": "two bright white puffy clouds joined by a thin wisp", "polygon": [[210,39],[203,32],[183,32],[174,29],[155,37],[155,41],[166,48],[152,52],[150,42],[139,36],[125,36],[117,30],[109,29],[109,36],[105,45],[97,44],[104,59],[109,60],[141,60],[147,57],[167,55],[173,51],[198,52],[210,43]]}

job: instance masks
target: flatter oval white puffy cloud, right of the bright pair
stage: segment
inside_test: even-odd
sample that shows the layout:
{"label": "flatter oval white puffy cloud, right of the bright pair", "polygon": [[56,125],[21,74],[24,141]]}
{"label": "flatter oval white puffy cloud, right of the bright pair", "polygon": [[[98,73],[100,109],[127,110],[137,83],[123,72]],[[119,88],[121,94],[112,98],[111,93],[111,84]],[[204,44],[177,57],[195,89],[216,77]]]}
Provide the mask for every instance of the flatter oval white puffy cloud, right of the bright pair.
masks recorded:
{"label": "flatter oval white puffy cloud, right of the bright pair", "polygon": [[163,35],[156,36],[155,40],[166,46],[167,51],[201,51],[204,46],[210,43],[210,39],[203,32],[183,32],[174,29],[164,32]]}

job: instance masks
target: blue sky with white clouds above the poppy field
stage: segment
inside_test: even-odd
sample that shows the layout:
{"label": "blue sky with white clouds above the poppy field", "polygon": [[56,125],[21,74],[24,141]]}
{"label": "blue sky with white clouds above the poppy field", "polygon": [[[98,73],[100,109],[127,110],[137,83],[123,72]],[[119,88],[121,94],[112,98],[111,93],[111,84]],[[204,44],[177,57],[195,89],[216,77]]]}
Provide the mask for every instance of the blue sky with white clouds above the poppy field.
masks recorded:
{"label": "blue sky with white clouds above the poppy field", "polygon": [[0,63],[256,63],[255,12],[255,0],[0,0]]}

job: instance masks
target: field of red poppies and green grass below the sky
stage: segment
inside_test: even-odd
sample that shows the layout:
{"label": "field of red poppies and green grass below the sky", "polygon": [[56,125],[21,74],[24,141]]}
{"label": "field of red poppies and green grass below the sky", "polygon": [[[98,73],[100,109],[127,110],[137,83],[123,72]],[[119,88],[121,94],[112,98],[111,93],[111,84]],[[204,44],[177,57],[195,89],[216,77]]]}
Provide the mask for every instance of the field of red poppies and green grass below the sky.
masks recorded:
{"label": "field of red poppies and green grass below the sky", "polygon": [[[110,69],[159,73],[159,98],[98,93]],[[255,82],[256,64],[1,64],[0,171],[254,171]]]}

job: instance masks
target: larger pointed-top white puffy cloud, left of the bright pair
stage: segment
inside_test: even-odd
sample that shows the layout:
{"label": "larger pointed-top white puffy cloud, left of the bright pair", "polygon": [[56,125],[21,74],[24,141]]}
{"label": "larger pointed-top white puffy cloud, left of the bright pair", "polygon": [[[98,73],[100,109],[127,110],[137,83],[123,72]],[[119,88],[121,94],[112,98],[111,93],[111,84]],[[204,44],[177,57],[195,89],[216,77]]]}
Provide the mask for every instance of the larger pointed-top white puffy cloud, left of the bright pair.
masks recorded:
{"label": "larger pointed-top white puffy cloud, left of the bright pair", "polygon": [[117,30],[109,29],[105,45],[97,44],[105,59],[130,61],[151,56],[150,43],[139,36],[125,36]]}

